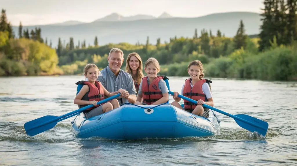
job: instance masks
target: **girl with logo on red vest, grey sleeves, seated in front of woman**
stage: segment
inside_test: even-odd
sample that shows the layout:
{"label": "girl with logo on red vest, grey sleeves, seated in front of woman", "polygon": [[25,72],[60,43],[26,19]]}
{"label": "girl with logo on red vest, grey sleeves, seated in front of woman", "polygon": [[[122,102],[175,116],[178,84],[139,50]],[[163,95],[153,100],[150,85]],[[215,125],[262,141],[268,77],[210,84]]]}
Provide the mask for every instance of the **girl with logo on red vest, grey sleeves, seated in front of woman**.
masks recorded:
{"label": "girl with logo on red vest, grey sleeves, seated in front of woman", "polygon": [[[139,84],[135,105],[158,105],[168,101],[168,88],[162,76],[157,76],[160,65],[157,59],[149,58],[145,63],[146,74]],[[143,101],[143,102],[141,102]]]}

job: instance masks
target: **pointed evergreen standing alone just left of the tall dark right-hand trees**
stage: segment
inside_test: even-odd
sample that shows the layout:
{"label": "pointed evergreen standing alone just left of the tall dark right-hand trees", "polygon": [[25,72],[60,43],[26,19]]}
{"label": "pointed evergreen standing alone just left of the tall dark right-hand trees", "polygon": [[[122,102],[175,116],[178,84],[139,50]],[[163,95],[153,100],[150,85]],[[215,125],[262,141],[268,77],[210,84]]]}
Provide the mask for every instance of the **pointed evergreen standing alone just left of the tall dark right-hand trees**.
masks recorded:
{"label": "pointed evergreen standing alone just left of the tall dark right-hand trees", "polygon": [[240,49],[243,47],[244,49],[247,47],[247,35],[245,34],[243,21],[240,20],[240,25],[237,30],[236,35],[234,36],[234,48]]}

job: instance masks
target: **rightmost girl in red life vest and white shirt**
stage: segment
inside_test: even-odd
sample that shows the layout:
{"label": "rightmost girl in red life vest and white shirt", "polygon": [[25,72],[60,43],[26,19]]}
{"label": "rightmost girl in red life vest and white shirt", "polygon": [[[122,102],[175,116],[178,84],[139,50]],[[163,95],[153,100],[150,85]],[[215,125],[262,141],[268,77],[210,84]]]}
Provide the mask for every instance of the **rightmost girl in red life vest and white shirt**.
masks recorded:
{"label": "rightmost girl in red life vest and white shirt", "polygon": [[[198,61],[192,61],[188,65],[188,73],[191,78],[186,79],[185,84],[181,88],[181,95],[189,97],[197,101],[197,104],[184,100],[184,110],[189,113],[199,115],[205,118],[208,118],[208,108],[203,108],[202,105],[205,103],[210,106],[214,106],[214,101],[211,95],[211,89],[209,86],[210,80],[203,79],[203,64]],[[174,92],[172,105],[177,108],[183,109],[178,103],[181,98],[177,97],[178,92]]]}

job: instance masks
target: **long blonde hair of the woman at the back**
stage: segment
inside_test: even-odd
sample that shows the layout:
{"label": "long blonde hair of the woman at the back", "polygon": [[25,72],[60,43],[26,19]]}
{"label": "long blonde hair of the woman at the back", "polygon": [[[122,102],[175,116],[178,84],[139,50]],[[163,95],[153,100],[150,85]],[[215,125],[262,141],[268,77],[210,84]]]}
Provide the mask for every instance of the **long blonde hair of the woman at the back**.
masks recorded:
{"label": "long blonde hair of the woman at the back", "polygon": [[[129,65],[129,61],[130,61],[131,56],[135,56],[139,61],[139,66],[138,66],[136,75],[134,75],[132,73],[132,70],[131,70],[130,65]],[[140,58],[139,54],[138,53],[129,53],[129,55],[127,57],[127,63],[126,63],[126,72],[132,75],[132,79],[135,80],[135,82],[137,84],[140,84],[141,79],[143,78],[142,68],[143,68],[142,67],[142,61],[141,61],[141,58]]]}

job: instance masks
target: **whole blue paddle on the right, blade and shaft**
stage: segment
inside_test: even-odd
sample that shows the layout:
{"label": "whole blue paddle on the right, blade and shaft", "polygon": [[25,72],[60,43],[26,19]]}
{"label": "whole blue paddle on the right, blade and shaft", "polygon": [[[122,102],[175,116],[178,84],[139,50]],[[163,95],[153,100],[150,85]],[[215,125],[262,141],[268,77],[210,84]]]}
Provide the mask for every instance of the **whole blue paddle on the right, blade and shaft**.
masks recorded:
{"label": "whole blue paddle on the right, blade and shaft", "polygon": [[[174,95],[173,92],[171,92],[171,91],[169,91],[169,94]],[[189,97],[185,97],[183,95],[178,95],[178,97],[180,97],[184,100],[187,100],[189,102],[197,104],[197,101],[190,99]],[[245,114],[232,115],[230,113],[226,113],[226,112],[219,110],[217,108],[211,107],[207,104],[203,104],[202,106],[233,118],[235,120],[235,122],[240,127],[244,128],[248,131],[251,131],[251,132],[257,131],[259,134],[262,134],[263,136],[266,135],[266,132],[268,130],[268,123],[265,121],[262,121],[260,119],[257,119],[257,118],[254,118],[252,116],[245,115]]]}

